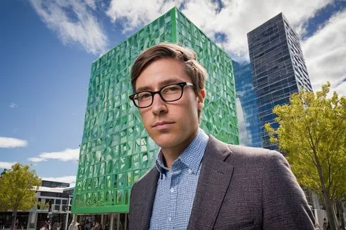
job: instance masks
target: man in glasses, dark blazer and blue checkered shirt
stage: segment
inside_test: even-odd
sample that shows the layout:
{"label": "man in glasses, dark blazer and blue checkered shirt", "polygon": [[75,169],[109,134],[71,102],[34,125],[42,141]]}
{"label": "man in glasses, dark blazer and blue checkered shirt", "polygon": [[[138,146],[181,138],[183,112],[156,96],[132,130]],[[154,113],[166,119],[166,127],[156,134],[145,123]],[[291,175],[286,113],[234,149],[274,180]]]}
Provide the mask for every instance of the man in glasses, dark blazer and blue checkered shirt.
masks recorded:
{"label": "man in glasses, dark blazer and blue checkered shirt", "polygon": [[175,44],[134,62],[130,99],[161,151],[132,187],[129,229],[313,229],[280,153],[225,144],[199,128],[205,79],[194,52]]}

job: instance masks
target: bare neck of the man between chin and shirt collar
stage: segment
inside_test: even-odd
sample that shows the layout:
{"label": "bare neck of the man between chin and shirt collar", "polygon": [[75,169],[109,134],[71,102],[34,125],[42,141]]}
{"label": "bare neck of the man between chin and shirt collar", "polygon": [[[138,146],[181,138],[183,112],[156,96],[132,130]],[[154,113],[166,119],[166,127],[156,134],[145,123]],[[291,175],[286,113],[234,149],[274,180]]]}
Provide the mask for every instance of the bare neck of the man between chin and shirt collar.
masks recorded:
{"label": "bare neck of the man between chin and shirt collar", "polygon": [[185,148],[188,147],[190,142],[192,142],[194,137],[196,137],[198,131],[199,128],[197,128],[197,130],[189,138],[187,138],[178,146],[173,146],[172,148],[161,148],[161,151],[163,153],[163,164],[165,164],[165,166],[170,169],[170,171],[172,170],[172,164],[174,160],[176,160],[181,155],[181,153],[183,153]]}

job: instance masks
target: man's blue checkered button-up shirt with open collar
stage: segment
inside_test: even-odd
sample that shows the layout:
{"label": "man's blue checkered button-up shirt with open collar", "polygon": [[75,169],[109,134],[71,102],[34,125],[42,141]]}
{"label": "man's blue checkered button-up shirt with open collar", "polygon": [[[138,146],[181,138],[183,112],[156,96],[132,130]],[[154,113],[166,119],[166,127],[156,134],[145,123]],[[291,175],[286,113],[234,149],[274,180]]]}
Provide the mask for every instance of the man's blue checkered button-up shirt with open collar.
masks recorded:
{"label": "man's blue checkered button-up shirt with open collar", "polygon": [[201,160],[209,137],[201,128],[187,148],[172,163],[163,164],[162,152],[156,156],[158,178],[149,229],[187,229],[196,194]]}

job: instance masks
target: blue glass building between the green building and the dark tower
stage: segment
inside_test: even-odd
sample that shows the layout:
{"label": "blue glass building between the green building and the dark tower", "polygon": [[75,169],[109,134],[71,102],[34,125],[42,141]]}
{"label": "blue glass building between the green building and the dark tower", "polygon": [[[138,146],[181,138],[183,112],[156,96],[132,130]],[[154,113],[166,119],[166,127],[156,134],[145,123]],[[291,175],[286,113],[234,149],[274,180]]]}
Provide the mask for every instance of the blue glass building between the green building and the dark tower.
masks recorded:
{"label": "blue glass building between the green building and the dark tower", "polygon": [[253,88],[251,64],[239,64],[236,61],[232,61],[232,63],[237,94],[239,144],[261,147],[262,133],[258,117],[257,96]]}

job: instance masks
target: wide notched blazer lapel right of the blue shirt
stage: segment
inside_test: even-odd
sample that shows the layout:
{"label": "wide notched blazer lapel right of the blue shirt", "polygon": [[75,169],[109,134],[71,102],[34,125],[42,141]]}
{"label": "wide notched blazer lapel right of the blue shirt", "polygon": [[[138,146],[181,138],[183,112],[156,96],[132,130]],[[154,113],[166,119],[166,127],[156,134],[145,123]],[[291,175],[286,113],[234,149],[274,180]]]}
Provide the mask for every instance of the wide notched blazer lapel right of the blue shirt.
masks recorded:
{"label": "wide notched blazer lapel right of the blue shirt", "polygon": [[225,162],[230,153],[226,144],[210,135],[203,155],[188,229],[214,227],[233,174],[233,166]]}

